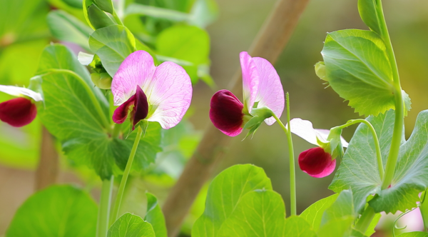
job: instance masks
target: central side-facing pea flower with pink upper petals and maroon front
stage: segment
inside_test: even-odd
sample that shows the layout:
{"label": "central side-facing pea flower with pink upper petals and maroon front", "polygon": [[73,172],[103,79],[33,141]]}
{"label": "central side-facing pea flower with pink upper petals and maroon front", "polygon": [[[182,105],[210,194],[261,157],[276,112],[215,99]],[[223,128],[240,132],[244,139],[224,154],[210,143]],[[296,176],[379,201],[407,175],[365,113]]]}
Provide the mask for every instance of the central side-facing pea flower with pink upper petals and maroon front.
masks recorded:
{"label": "central side-facing pea flower with pink upper petals and maroon front", "polygon": [[[267,107],[278,118],[284,110],[284,90],[280,76],[269,61],[252,58],[247,52],[240,53],[243,71],[244,104],[230,91],[217,91],[210,103],[210,119],[214,126],[228,136],[237,136],[245,123],[255,114],[255,109]],[[263,118],[267,125],[275,118]]]}

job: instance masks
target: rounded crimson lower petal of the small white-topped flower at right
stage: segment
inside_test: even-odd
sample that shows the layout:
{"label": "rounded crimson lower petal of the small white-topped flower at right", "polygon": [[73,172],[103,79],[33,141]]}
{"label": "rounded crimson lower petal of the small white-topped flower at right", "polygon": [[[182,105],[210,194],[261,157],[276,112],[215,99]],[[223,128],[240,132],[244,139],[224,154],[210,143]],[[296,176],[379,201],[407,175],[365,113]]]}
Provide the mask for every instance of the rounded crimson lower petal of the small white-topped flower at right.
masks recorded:
{"label": "rounded crimson lower petal of the small white-topped flower at right", "polygon": [[300,169],[315,178],[322,178],[335,171],[336,160],[321,147],[310,148],[299,155]]}

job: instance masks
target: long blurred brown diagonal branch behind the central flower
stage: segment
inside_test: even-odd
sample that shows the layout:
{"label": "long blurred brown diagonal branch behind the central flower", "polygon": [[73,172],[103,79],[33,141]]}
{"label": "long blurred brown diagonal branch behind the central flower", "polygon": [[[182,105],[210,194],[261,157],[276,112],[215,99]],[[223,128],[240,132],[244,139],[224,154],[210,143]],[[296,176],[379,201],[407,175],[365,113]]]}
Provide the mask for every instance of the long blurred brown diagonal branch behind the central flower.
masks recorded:
{"label": "long blurred brown diagonal branch behind the central flower", "polygon": [[[259,56],[275,64],[287,44],[309,0],[278,0],[269,18],[260,29],[257,38],[248,50],[251,56]],[[242,94],[240,69],[235,73],[229,86],[233,94]],[[220,160],[230,137],[210,125],[198,148],[163,205],[168,236],[177,236],[180,225],[188,213],[195,197],[205,181],[210,178],[215,164]]]}

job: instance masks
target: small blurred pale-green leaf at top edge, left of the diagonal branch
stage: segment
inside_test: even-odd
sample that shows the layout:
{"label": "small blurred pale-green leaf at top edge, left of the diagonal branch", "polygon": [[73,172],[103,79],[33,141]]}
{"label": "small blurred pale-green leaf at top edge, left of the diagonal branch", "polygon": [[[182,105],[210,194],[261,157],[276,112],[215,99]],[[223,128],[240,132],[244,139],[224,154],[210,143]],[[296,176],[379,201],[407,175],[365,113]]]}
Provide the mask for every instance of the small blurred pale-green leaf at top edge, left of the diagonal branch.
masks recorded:
{"label": "small blurred pale-green leaf at top edge, left of the diagonal branch", "polygon": [[205,28],[218,18],[218,6],[214,0],[196,0],[190,11],[188,24]]}

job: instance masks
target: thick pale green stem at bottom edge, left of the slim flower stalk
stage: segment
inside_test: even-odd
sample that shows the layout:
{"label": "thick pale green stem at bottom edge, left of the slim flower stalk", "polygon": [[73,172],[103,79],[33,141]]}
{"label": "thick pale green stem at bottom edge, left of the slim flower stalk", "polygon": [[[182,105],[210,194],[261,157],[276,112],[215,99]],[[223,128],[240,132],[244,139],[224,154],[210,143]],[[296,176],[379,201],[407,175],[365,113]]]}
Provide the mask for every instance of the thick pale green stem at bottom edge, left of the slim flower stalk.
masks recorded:
{"label": "thick pale green stem at bottom edge, left of the slim flower stalk", "polygon": [[96,237],[106,237],[108,232],[108,219],[110,216],[111,191],[113,190],[114,177],[103,180],[101,187],[100,208],[98,209],[98,220],[96,223]]}

